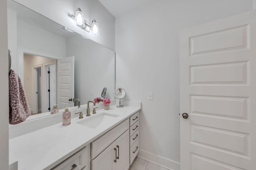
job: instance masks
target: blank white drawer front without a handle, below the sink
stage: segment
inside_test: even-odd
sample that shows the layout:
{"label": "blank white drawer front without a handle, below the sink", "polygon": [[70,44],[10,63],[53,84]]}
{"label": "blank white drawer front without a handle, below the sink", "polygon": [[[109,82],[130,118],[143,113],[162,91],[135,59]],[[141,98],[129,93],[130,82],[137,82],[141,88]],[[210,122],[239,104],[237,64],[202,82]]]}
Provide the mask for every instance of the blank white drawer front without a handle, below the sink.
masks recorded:
{"label": "blank white drawer front without a handle, below the sink", "polygon": [[126,119],[95,141],[91,143],[91,159],[94,159],[100,152],[113,143],[122,133],[129,129],[129,119]]}

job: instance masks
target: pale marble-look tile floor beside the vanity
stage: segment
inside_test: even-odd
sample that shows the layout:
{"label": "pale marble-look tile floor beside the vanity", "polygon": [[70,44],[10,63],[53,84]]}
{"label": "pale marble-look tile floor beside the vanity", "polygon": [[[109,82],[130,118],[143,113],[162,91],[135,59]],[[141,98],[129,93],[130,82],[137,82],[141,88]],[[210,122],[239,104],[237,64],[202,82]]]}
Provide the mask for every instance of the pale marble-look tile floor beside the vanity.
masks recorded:
{"label": "pale marble-look tile floor beside the vanity", "polygon": [[162,166],[158,166],[153,164],[152,162],[148,162],[142,158],[136,157],[131,164],[129,170],[168,170],[163,168]]}

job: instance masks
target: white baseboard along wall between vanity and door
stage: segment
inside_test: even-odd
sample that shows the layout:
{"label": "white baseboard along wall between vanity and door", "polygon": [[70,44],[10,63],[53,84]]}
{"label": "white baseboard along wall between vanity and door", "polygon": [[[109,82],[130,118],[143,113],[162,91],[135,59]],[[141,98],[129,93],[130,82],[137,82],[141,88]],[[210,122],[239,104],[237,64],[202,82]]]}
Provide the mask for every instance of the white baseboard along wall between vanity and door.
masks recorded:
{"label": "white baseboard along wall between vanity and door", "polygon": [[142,149],[140,149],[137,156],[139,158],[148,160],[149,162],[152,162],[169,170],[180,170],[180,163],[164,158],[162,156],[158,156],[156,154],[152,154]]}

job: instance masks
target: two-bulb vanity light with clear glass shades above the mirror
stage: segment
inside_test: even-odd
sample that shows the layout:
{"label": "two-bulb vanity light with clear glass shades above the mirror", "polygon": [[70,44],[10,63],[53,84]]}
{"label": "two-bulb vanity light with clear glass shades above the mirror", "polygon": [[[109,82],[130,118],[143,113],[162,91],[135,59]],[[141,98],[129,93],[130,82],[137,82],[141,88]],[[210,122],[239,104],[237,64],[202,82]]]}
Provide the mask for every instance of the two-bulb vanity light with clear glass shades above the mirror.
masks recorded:
{"label": "two-bulb vanity light with clear glass shades above the mirror", "polygon": [[95,19],[92,20],[92,26],[90,25],[90,23],[86,20],[84,20],[84,14],[82,13],[82,10],[80,8],[76,9],[76,15],[70,15],[71,18],[73,18],[75,20],[75,24],[84,29],[85,31],[92,33],[93,35],[100,35],[99,32],[99,25],[96,22]]}

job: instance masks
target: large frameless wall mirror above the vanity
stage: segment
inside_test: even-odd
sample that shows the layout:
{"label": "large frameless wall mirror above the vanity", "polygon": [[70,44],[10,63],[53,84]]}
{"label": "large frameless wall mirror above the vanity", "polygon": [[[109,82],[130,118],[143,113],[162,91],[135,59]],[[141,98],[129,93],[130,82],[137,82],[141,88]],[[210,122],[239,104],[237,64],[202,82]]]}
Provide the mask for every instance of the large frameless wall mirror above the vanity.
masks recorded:
{"label": "large frameless wall mirror above the vanity", "polygon": [[[8,48],[34,118],[50,109],[77,108],[100,97],[114,99],[115,52],[12,0],[8,1]],[[16,47],[16,49],[15,49]],[[11,49],[12,48],[12,49]],[[16,69],[13,68],[15,67]]]}

